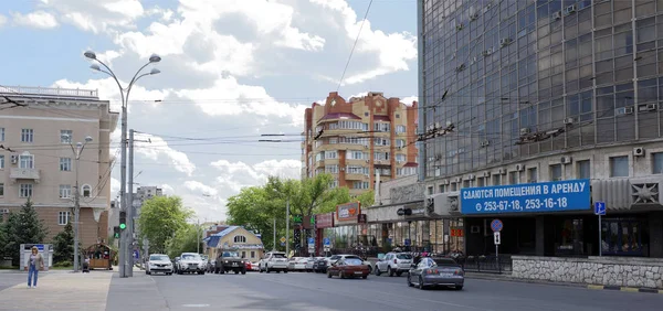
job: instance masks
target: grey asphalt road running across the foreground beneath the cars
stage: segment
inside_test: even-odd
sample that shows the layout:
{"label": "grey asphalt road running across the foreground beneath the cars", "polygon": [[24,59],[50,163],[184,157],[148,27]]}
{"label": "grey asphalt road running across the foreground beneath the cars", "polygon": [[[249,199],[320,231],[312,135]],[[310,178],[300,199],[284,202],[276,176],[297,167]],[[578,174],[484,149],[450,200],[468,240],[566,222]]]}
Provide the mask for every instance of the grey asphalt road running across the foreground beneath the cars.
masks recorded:
{"label": "grey asphalt road running across the foreground beneath the cars", "polygon": [[467,279],[462,291],[409,288],[404,277],[322,274],[114,278],[107,310],[661,310],[663,294]]}

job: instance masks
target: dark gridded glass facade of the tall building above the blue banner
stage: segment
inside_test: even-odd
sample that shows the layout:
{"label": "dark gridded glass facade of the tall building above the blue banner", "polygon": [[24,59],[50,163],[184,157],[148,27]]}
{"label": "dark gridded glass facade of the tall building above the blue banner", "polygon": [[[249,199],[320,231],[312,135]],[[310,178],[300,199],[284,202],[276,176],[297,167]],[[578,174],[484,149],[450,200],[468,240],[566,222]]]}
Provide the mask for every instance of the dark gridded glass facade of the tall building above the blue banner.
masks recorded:
{"label": "dark gridded glass facade of the tall building above the blue banner", "polygon": [[[423,0],[425,178],[663,133],[663,1]],[[517,144],[523,137],[550,133]]]}

